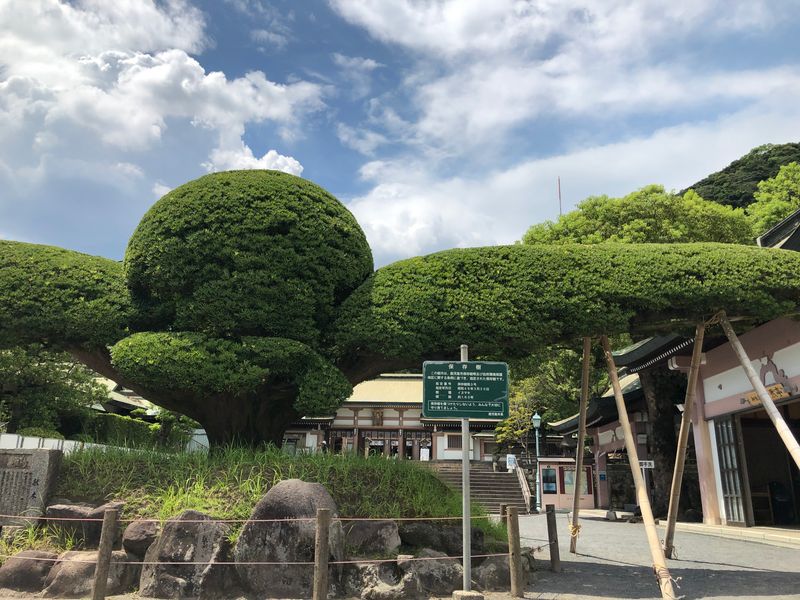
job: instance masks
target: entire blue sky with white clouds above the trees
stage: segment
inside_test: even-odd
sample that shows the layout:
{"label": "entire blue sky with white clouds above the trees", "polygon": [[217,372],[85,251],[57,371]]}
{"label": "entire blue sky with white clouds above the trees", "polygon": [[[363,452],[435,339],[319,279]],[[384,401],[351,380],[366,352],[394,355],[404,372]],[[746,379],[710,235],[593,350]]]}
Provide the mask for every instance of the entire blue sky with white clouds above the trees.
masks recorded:
{"label": "entire blue sky with white clouds above the trees", "polygon": [[376,264],[800,139],[786,0],[0,0],[0,238],[121,258],[209,171],[336,195]]}

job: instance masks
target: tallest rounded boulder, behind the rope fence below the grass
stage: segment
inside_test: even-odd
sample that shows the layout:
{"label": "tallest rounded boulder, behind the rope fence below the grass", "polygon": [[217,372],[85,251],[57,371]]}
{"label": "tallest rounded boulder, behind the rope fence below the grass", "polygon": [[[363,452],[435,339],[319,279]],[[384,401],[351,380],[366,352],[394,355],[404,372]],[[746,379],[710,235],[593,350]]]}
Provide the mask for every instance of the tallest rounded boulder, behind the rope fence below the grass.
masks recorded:
{"label": "tallest rounded boulder, behind the rope fence below the grass", "polygon": [[[329,509],[333,517],[328,531],[328,559],[344,559],[344,533],[336,519],[336,503],[328,491],[318,483],[281,481],[256,504],[236,542],[236,570],[246,590],[260,597],[311,597],[314,519],[319,508]],[[247,564],[252,562],[311,564]],[[328,579],[332,586],[338,582],[340,572],[340,568],[331,566]]]}

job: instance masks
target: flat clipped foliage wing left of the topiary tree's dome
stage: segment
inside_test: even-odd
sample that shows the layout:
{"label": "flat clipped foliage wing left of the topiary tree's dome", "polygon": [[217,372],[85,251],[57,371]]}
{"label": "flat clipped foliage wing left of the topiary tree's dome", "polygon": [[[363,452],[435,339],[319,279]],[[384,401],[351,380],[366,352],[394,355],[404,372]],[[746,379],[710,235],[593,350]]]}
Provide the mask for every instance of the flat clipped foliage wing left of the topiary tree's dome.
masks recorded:
{"label": "flat clipped foliage wing left of the topiary tree's dome", "polygon": [[0,347],[104,347],[131,313],[122,266],[52,246],[0,240]]}

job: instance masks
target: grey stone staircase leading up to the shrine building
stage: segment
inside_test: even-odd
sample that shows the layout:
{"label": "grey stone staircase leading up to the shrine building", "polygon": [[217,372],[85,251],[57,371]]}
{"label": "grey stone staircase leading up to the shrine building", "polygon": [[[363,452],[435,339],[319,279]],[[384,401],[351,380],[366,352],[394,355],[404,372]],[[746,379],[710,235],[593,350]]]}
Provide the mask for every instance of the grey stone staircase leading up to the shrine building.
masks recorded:
{"label": "grey stone staircase leading up to the shrine building", "polygon": [[[428,464],[439,479],[461,491],[461,461],[434,461]],[[500,513],[500,505],[516,506],[519,514],[528,514],[516,473],[492,471],[488,462],[472,461],[469,466],[470,499],[479,502],[491,514]]]}

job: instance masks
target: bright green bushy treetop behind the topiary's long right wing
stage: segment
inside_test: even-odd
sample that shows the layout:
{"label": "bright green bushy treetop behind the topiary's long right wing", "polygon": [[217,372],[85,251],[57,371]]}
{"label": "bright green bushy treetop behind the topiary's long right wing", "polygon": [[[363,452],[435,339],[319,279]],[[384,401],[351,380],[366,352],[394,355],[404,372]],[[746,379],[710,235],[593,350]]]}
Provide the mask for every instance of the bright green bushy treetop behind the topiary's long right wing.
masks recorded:
{"label": "bright green bushy treetop behind the topiary's long right wing", "polygon": [[742,210],[708,202],[692,191],[679,196],[660,185],[649,185],[624,198],[587,198],[558,221],[531,227],[523,242],[749,244],[753,239]]}

